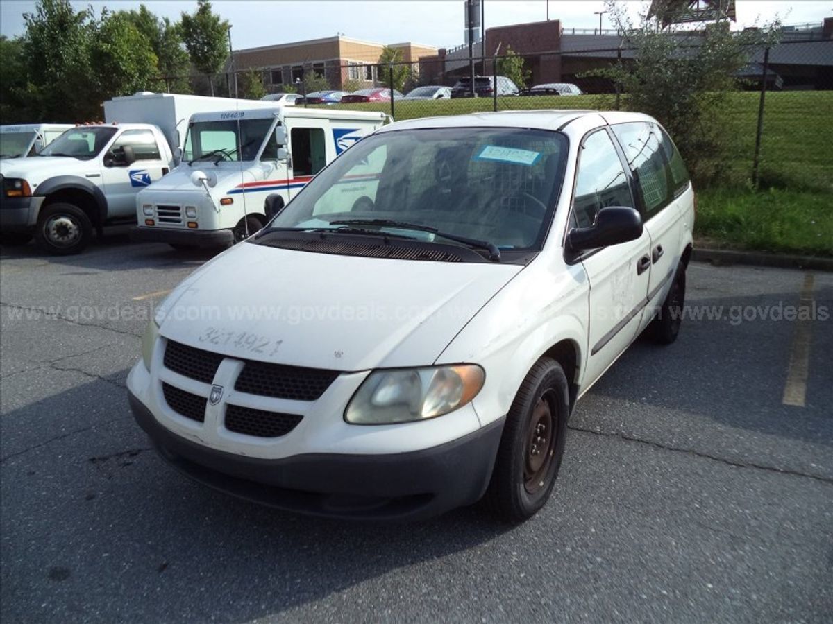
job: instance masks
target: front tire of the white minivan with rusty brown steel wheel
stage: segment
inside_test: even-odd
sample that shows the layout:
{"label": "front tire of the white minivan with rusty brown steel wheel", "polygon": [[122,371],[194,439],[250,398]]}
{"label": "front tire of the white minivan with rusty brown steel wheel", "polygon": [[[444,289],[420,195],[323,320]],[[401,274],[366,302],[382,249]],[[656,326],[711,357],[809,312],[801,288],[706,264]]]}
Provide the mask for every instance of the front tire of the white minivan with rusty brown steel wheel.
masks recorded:
{"label": "front tire of the white minivan with rusty brown steel wheel", "polygon": [[512,401],[486,490],[486,504],[502,520],[531,518],[550,498],[569,416],[564,369],[555,359],[539,359]]}

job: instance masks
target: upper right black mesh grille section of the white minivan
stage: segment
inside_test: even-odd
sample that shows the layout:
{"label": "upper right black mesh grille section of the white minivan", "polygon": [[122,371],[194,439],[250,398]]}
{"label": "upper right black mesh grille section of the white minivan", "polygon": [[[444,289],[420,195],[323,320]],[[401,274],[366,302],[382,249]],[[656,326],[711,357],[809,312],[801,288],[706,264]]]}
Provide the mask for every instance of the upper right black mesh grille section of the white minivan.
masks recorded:
{"label": "upper right black mesh grille section of the white minivan", "polygon": [[338,377],[336,370],[247,361],[234,389],[277,399],[314,401]]}

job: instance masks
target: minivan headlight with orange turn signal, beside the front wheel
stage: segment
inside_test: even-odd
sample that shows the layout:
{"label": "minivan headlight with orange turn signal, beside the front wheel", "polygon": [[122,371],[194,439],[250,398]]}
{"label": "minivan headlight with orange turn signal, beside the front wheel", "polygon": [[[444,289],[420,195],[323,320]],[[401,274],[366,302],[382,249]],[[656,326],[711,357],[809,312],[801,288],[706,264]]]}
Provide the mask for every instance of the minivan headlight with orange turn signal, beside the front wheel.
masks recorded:
{"label": "minivan headlight with orange turn signal, beside the front wheel", "polygon": [[344,419],[354,424],[409,423],[461,408],[483,387],[486,373],[476,364],[373,371],[347,404]]}

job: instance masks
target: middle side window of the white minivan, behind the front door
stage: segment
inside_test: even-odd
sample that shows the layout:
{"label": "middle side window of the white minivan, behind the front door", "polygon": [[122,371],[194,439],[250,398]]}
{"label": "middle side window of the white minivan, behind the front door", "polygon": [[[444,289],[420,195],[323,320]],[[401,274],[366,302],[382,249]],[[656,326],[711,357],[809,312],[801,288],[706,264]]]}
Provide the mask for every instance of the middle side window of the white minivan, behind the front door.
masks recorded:
{"label": "middle side window of the white minivan, behind the front door", "polygon": [[617,124],[612,129],[636,176],[636,186],[645,205],[642,216],[648,220],[672,199],[659,129],[644,121]]}

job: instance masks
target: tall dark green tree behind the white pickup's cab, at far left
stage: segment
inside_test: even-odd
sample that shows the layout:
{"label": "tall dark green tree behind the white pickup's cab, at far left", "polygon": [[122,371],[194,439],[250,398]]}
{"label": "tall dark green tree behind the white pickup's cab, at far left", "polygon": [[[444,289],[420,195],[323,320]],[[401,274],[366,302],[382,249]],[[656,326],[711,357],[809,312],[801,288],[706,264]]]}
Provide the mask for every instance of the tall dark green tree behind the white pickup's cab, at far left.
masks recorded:
{"label": "tall dark green tree behind the white pickup's cab, at far left", "polygon": [[87,97],[92,87],[90,47],[96,23],[68,0],[40,0],[23,16],[22,53],[27,85],[21,97],[32,121],[86,121],[101,116],[101,102]]}

